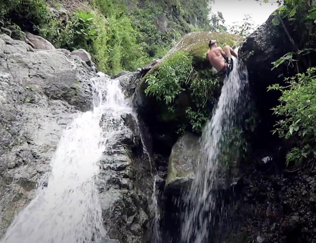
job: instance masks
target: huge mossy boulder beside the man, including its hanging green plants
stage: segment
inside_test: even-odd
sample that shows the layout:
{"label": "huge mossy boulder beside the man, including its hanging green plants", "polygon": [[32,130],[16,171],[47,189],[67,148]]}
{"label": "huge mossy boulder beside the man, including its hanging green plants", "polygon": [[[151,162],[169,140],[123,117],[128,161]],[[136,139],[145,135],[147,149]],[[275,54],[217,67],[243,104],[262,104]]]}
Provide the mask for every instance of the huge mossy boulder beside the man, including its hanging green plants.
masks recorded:
{"label": "huge mossy boulder beside the man, including its hanging green plants", "polygon": [[206,59],[210,39],[237,46],[238,35],[215,32],[186,34],[139,81],[133,103],[149,125],[157,147],[168,153],[184,132],[200,133],[220,94],[222,83]]}

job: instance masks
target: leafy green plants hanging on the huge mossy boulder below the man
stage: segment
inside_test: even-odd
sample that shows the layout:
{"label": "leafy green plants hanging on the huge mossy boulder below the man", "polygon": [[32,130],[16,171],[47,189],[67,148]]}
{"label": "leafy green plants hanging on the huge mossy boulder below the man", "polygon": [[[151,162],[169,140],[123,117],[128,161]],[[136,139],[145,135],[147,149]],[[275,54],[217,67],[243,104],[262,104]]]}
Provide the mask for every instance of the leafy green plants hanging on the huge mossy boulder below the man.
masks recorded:
{"label": "leafy green plants hanging on the huge mossy boulder below the man", "polygon": [[[188,53],[176,51],[146,79],[146,95],[162,101],[171,114],[170,119],[182,117],[179,110],[185,110],[185,121],[181,122],[179,133],[186,129],[201,132],[211,112],[207,104],[215,102],[213,92],[219,84],[218,78],[201,79],[192,67],[192,59]],[[183,109],[177,103],[181,94],[189,97],[189,104]]]}

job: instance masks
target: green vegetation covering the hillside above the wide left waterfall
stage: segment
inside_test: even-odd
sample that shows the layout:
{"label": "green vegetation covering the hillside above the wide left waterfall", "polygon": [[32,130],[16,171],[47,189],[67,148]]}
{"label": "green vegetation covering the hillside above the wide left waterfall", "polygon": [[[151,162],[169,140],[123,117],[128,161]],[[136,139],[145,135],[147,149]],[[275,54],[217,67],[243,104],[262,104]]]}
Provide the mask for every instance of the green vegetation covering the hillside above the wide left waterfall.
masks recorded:
{"label": "green vegetation covering the hillside above the wide left waterfall", "polygon": [[[153,58],[161,58],[184,33],[207,26],[207,0],[194,4],[145,1],[142,6],[136,0],[93,0],[92,4],[93,10],[77,9],[67,23],[62,23],[51,17],[44,0],[1,1],[0,26],[7,25],[8,19],[57,48],[86,49],[98,69],[108,74],[134,71]],[[168,19],[166,31],[157,29],[157,17],[163,13]]]}

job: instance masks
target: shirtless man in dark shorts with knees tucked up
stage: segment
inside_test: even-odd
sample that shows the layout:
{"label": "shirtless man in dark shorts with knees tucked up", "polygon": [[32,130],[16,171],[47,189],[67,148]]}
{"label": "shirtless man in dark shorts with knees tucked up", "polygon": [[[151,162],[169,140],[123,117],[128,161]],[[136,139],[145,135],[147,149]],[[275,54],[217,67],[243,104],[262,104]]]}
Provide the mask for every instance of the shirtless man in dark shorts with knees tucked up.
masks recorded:
{"label": "shirtless man in dark shorts with knees tucked up", "polygon": [[230,46],[225,46],[224,51],[221,47],[217,47],[216,40],[210,40],[210,50],[206,53],[206,58],[210,61],[211,65],[224,76],[228,76],[233,70],[233,59],[238,57],[237,54]]}

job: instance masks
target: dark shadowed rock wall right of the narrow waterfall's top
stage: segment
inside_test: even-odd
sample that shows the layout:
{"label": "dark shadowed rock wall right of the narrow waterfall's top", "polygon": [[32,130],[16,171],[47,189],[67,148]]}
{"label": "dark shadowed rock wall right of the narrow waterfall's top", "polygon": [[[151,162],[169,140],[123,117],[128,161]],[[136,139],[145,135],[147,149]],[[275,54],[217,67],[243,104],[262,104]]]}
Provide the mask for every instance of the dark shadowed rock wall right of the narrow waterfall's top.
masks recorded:
{"label": "dark shadowed rock wall right of the narrow waterfall's top", "polygon": [[[274,15],[270,15],[263,25],[247,37],[238,52],[238,56],[246,64],[252,100],[255,101],[262,120],[257,130],[259,131],[257,137],[260,137],[260,141],[257,139],[258,146],[268,144],[273,139],[270,131],[274,129],[275,118],[272,116],[271,109],[278,104],[280,97],[280,93],[277,91],[267,92],[267,87],[276,83],[283,84],[284,77],[293,74],[291,68],[285,64],[271,70],[272,62],[293,51],[289,38],[281,25],[272,24],[273,18]],[[285,22],[285,24],[287,23]],[[255,140],[253,145],[255,145]]]}

